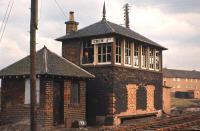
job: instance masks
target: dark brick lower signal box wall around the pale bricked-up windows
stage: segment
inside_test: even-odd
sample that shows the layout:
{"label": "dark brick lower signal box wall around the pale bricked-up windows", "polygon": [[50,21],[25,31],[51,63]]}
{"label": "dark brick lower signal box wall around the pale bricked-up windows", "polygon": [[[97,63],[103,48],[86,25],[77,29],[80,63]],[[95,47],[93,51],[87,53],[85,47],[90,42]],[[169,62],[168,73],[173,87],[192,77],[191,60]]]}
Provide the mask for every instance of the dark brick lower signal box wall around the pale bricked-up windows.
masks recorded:
{"label": "dark brick lower signal box wall around the pale bricked-up windows", "polygon": [[[127,89],[126,86],[128,84],[135,84],[137,86],[136,99],[137,97],[146,97],[146,100],[140,100],[141,102],[137,102],[136,109],[137,110],[145,110],[147,109],[148,99],[148,87],[149,85],[155,86],[155,90],[153,90],[153,98],[154,108],[156,110],[162,109],[162,73],[151,72],[151,71],[141,71],[137,69],[129,69],[129,68],[114,68],[114,79],[113,79],[113,90],[115,93],[115,109],[116,114],[121,112],[126,112],[128,109],[128,99],[127,99]],[[143,88],[143,89],[142,89]],[[142,91],[140,91],[142,90]],[[151,90],[150,90],[151,93]],[[145,96],[143,96],[146,94]],[[151,98],[151,97],[149,97]],[[143,105],[146,105],[144,107]],[[148,111],[147,111],[148,112]]]}

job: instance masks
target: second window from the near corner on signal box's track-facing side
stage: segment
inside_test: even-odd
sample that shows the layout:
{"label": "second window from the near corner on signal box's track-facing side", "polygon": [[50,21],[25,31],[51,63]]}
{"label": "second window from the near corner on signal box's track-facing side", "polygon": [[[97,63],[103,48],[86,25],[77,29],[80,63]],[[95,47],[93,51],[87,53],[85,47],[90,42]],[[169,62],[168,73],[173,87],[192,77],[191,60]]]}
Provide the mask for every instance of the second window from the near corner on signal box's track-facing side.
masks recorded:
{"label": "second window from the near corner on signal box's track-facing side", "polygon": [[125,42],[125,64],[131,65],[131,44],[130,41]]}

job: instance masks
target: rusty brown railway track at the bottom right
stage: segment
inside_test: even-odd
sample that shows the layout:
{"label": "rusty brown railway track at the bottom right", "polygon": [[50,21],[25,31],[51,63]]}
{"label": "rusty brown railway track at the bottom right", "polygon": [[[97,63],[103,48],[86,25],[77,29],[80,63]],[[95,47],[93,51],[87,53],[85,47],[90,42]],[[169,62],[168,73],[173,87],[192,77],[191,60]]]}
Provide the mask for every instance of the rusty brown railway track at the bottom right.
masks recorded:
{"label": "rusty brown railway track at the bottom right", "polygon": [[[190,113],[182,116],[172,116],[163,119],[152,120],[137,125],[122,125],[118,127],[108,127],[101,131],[142,131],[142,130],[157,130],[171,131],[180,130],[193,126],[200,125],[200,113]],[[200,129],[200,128],[199,128]]]}

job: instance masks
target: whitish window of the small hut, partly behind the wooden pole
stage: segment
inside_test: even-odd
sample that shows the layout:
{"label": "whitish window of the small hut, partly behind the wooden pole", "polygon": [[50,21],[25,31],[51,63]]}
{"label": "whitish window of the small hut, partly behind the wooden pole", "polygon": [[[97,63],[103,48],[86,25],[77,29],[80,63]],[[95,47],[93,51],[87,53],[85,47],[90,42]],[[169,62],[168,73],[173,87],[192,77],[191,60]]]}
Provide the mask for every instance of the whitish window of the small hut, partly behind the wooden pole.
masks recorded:
{"label": "whitish window of the small hut, partly behind the wooden pole", "polygon": [[[30,88],[30,79],[25,80],[25,99],[24,104],[30,104],[31,100],[31,88]],[[40,103],[40,80],[36,80],[36,101],[37,104]]]}

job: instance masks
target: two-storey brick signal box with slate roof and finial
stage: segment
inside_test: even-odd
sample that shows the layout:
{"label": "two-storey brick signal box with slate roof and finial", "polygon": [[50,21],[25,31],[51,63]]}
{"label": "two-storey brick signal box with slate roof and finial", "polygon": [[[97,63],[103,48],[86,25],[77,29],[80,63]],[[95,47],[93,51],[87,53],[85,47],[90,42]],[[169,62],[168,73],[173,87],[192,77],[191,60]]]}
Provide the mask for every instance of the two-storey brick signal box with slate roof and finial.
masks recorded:
{"label": "two-storey brick signal box with slate roof and finial", "polygon": [[78,30],[70,12],[62,42],[62,56],[95,79],[87,83],[87,122],[119,124],[122,119],[156,115],[163,108],[160,44],[106,20]]}

